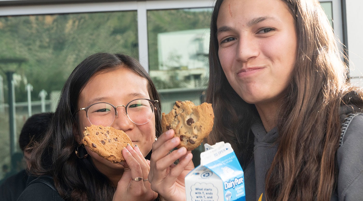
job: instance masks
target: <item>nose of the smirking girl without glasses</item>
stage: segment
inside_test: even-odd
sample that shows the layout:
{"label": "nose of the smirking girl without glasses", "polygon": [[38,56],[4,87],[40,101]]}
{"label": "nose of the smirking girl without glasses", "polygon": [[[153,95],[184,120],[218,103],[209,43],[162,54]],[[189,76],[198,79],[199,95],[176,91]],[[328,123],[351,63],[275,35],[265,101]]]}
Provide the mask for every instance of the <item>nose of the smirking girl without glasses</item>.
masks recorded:
{"label": "nose of the smirking girl without glasses", "polygon": [[236,54],[236,59],[242,62],[257,57],[259,54],[258,43],[254,40],[254,37],[248,35],[240,37]]}

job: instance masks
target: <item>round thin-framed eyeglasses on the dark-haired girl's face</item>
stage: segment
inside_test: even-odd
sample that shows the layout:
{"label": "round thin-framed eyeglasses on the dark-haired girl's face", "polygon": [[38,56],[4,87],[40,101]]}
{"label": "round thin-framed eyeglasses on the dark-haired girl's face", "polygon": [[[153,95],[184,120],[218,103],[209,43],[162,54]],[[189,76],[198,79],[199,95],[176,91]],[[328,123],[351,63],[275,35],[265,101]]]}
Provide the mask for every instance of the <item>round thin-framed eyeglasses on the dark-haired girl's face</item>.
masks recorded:
{"label": "round thin-framed eyeglasses on the dark-haired girl's face", "polygon": [[154,105],[158,102],[159,100],[145,98],[131,100],[126,106],[113,106],[110,103],[100,102],[81,108],[77,112],[84,110],[86,111],[87,119],[91,124],[107,127],[113,123],[115,117],[118,118],[117,108],[125,107],[126,116],[129,117],[133,123],[143,125],[148,123],[154,115]]}

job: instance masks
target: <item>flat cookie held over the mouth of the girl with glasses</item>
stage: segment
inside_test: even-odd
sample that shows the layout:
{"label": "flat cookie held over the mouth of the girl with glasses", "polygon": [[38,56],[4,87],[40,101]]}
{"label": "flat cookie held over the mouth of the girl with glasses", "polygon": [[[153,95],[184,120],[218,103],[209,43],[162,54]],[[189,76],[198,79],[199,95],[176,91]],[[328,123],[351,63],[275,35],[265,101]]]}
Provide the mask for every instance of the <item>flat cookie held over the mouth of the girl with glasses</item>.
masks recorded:
{"label": "flat cookie held over the mouth of the girl with glasses", "polygon": [[113,127],[91,125],[85,128],[83,134],[85,135],[82,140],[84,145],[113,163],[125,161],[122,156],[123,147],[127,144],[134,146],[125,132]]}

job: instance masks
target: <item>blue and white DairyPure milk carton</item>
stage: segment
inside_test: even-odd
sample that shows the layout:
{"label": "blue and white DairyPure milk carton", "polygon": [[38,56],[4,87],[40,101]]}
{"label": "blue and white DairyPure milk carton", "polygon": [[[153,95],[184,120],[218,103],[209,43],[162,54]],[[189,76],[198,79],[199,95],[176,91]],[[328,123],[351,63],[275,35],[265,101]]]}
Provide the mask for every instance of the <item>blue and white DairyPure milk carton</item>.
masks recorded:
{"label": "blue and white DairyPure milk carton", "polygon": [[205,144],[200,165],[185,176],[187,201],[245,201],[243,170],[231,144]]}

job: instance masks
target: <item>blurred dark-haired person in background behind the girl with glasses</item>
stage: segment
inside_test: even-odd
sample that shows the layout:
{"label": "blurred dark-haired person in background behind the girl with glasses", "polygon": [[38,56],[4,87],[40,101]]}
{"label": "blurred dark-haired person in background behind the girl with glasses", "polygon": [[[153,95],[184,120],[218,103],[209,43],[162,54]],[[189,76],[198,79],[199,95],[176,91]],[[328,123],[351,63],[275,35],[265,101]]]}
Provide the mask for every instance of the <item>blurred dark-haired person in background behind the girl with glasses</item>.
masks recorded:
{"label": "blurred dark-haired person in background behind the girl with glasses", "polygon": [[[2,200],[16,201],[24,191],[27,183],[34,179],[34,177],[28,175],[24,167],[29,166],[29,155],[32,149],[34,149],[34,146],[36,146],[44,137],[52,116],[53,113],[40,113],[29,117],[29,119],[25,121],[19,136],[19,146],[23,151],[23,154],[16,153],[16,155],[13,155],[12,157],[12,161],[15,163],[14,167],[17,167],[13,172],[17,172],[17,174],[4,179],[3,183],[0,185]],[[25,160],[25,165],[23,164],[23,159]],[[19,161],[21,163],[19,163]]]}

